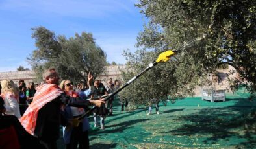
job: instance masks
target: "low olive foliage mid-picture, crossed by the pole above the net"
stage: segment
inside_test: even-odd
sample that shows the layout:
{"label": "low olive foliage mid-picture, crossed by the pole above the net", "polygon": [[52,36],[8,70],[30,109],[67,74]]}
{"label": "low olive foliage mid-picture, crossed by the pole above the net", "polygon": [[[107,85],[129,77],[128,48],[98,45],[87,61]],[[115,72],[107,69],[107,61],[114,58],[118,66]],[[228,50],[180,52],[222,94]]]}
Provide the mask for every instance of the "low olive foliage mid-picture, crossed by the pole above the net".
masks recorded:
{"label": "low olive foliage mid-picture, crossed by the pole above the net", "polygon": [[[140,49],[134,54],[125,51],[124,55],[127,58],[128,71],[124,71],[122,76],[123,80],[127,82],[145,69],[149,63],[156,60],[159,54]],[[189,67],[191,63],[196,62],[188,59],[181,60],[182,62],[174,59],[171,61],[171,63],[160,63],[140,76],[138,80],[120,93],[121,99],[129,100],[134,105],[147,105],[152,98],[158,98],[165,102],[168,97],[175,100],[192,95],[196,84],[204,83],[203,75],[197,73],[198,69],[203,69],[202,65]],[[202,81],[196,78],[202,78]]]}

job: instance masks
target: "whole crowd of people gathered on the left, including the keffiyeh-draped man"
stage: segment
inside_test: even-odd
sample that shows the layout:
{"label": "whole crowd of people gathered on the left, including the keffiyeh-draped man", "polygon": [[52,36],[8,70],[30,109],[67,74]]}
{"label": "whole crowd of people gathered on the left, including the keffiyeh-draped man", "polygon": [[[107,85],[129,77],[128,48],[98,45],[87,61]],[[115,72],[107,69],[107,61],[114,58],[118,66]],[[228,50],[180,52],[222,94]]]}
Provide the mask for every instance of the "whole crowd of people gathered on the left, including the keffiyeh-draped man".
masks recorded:
{"label": "whole crowd of people gathered on the left, including the keffiyeh-draped man", "polygon": [[[12,80],[1,81],[0,132],[5,135],[1,135],[0,148],[57,148],[60,126],[66,148],[77,148],[78,144],[79,148],[90,148],[88,117],[77,125],[73,120],[90,110],[88,106],[97,106],[94,127],[105,129],[105,119],[113,115],[112,102],[118,96],[107,101],[102,97],[119,89],[120,81],[113,83],[110,78],[104,86],[100,80],[93,82],[89,73],[86,83],[75,86],[71,80],[62,80],[59,84],[55,69],[47,69],[43,79],[40,85],[29,82],[28,87],[24,80],[18,86]],[[122,103],[122,110],[127,104]]]}

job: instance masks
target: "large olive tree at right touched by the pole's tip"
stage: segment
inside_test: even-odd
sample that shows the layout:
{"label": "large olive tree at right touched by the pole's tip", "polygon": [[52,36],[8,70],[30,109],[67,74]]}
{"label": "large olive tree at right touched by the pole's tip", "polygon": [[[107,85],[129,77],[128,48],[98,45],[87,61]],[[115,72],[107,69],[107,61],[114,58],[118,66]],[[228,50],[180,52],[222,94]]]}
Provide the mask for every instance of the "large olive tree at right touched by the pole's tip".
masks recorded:
{"label": "large olive tree at right touched by the pole's tip", "polygon": [[[156,58],[166,49],[175,49],[185,41],[205,34],[203,40],[186,48],[190,49],[189,51],[184,51],[170,62],[157,66],[156,69],[161,69],[162,73],[169,72],[171,80],[175,80],[168,84],[168,86],[176,86],[169,87],[171,95],[176,91],[192,95],[192,89],[196,85],[204,84],[205,76],[214,73],[218,65],[223,63],[237,69],[244,78],[243,83],[246,84],[251,95],[254,95],[256,1],[140,0],[136,6],[149,20],[144,31],[138,36],[138,53],[147,49],[154,52]],[[129,65],[138,69],[146,67],[142,56],[131,53],[126,56],[131,62]],[[136,71],[136,68],[134,70]],[[159,80],[161,79],[166,78],[162,76]],[[231,80],[231,89],[237,89],[240,83],[240,80]],[[147,91],[144,87],[149,86],[151,82],[145,80],[143,84],[141,89]]]}

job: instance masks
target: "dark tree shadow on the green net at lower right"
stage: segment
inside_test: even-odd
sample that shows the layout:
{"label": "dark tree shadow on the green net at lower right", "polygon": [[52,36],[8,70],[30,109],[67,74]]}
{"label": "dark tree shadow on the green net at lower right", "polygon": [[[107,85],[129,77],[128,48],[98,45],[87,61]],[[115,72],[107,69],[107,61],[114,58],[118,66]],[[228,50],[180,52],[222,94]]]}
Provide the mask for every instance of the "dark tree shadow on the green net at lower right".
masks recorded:
{"label": "dark tree shadow on the green net at lower right", "polygon": [[[241,106],[242,104],[242,106]],[[251,107],[251,108],[248,108]],[[244,126],[252,105],[244,105],[239,100],[235,106],[221,108],[203,108],[198,113],[178,117],[177,122],[184,124],[168,133],[172,135],[204,136],[203,143],[217,144],[218,141],[229,141],[229,144],[244,148],[254,148],[256,145],[255,132],[246,132]],[[248,120],[247,120],[248,121]],[[256,119],[250,119],[250,124],[256,124]],[[166,132],[161,132],[166,133]],[[237,142],[235,139],[245,139]],[[231,142],[230,142],[231,141]]]}

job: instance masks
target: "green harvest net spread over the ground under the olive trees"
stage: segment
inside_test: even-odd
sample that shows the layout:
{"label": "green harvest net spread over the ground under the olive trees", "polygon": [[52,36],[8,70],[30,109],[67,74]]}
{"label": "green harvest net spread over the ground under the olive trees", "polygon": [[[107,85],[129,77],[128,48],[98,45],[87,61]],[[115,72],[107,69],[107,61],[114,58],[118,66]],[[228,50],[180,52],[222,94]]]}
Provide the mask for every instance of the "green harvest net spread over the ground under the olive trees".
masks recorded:
{"label": "green harvest net spread over the ground under the olive trees", "polygon": [[254,148],[255,124],[248,113],[256,102],[244,94],[227,95],[226,102],[209,102],[188,97],[167,106],[160,115],[147,108],[120,112],[114,101],[114,115],[105,120],[105,130],[93,128],[90,117],[91,148]]}

